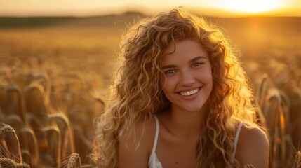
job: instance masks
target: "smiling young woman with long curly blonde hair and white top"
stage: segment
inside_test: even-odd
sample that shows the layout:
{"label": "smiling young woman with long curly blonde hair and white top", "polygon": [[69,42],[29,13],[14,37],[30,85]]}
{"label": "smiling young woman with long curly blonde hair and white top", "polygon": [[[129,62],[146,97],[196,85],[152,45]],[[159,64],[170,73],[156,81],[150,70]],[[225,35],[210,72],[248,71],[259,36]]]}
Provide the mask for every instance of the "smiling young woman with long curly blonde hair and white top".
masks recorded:
{"label": "smiling young woman with long curly blonde hair and white top", "polygon": [[115,99],[97,122],[100,167],[268,167],[246,73],[217,27],[174,9],[124,39]]}

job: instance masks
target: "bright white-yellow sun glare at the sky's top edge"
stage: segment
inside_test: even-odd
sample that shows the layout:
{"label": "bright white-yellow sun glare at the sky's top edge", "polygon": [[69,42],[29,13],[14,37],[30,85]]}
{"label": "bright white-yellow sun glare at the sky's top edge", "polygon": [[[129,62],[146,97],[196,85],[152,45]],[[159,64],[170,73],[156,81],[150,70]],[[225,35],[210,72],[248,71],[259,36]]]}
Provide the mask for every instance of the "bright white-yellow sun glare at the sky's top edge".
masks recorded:
{"label": "bright white-yellow sun glare at the sky's top edge", "polygon": [[262,13],[279,7],[279,0],[227,0],[225,1],[227,10]]}

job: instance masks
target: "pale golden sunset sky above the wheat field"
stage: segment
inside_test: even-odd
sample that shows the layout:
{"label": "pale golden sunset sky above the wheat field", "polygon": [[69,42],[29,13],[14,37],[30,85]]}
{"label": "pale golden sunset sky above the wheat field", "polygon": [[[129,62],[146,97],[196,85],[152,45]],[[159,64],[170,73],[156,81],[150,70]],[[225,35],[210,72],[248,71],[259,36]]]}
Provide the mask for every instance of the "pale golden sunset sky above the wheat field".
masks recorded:
{"label": "pale golden sunset sky above the wheat field", "polygon": [[178,6],[220,17],[301,16],[301,0],[0,0],[0,16],[90,16],[126,10],[152,14]]}

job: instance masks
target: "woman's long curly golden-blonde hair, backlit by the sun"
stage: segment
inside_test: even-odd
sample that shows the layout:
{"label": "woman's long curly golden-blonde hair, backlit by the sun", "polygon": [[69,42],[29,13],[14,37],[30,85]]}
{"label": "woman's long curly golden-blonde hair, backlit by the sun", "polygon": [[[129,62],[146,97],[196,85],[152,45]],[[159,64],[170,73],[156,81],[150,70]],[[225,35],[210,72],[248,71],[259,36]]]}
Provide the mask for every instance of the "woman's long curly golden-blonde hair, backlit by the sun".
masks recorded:
{"label": "woman's long curly golden-blonde hair, backlit by the sun", "polygon": [[[196,166],[239,167],[231,162],[238,122],[255,125],[253,92],[236,50],[227,36],[204,18],[182,8],[144,18],[128,29],[121,41],[114,99],[109,109],[96,118],[96,137],[91,158],[100,167],[118,167],[119,136],[133,129],[138,120],[170,107],[159,85],[163,51],[175,41],[191,39],[208,52],[213,74],[210,109],[197,147]],[[220,160],[220,158],[223,158]]]}

